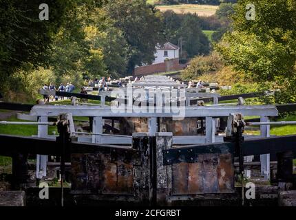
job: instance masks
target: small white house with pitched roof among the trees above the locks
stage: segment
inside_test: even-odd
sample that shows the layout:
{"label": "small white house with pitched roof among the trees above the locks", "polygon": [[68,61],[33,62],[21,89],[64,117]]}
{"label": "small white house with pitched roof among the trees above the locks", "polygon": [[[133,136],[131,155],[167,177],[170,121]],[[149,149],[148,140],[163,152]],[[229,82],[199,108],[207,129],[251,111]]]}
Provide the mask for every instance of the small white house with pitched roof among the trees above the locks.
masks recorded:
{"label": "small white house with pitched roof among the trees above the locks", "polygon": [[155,60],[153,64],[164,63],[166,59],[179,58],[179,47],[173,43],[165,43],[164,45],[156,45]]}

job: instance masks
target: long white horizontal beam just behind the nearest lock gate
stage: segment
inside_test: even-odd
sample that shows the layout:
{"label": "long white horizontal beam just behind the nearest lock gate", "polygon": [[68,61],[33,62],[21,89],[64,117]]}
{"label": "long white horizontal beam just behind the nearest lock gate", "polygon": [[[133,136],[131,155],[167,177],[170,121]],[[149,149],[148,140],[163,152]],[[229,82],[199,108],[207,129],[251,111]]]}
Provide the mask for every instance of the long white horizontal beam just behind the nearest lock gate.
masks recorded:
{"label": "long white horizontal beam just behind the nearest lock gate", "polygon": [[[157,112],[154,106],[147,106],[147,112],[138,112],[134,107],[123,106],[115,111],[116,107],[99,106],[72,106],[72,105],[35,105],[30,115],[57,116],[61,113],[72,113],[73,116],[88,117],[176,117],[180,111],[184,111],[184,117],[228,117],[230,113],[242,113],[252,116],[277,116],[278,111],[274,105],[242,105],[242,106],[207,106],[207,107],[162,107],[162,112]],[[139,107],[141,108],[141,107]],[[141,108],[141,109],[144,109]],[[182,115],[181,115],[182,117]]]}

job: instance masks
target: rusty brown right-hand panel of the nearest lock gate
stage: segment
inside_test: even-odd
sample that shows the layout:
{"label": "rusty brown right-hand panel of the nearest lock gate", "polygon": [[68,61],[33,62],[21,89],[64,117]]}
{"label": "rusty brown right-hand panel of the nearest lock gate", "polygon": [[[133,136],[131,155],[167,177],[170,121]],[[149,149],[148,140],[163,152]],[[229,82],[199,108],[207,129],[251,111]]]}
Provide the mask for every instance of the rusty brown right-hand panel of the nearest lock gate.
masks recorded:
{"label": "rusty brown right-hand panel of the nearest lock gate", "polygon": [[231,154],[200,154],[198,162],[172,165],[173,195],[234,192]]}

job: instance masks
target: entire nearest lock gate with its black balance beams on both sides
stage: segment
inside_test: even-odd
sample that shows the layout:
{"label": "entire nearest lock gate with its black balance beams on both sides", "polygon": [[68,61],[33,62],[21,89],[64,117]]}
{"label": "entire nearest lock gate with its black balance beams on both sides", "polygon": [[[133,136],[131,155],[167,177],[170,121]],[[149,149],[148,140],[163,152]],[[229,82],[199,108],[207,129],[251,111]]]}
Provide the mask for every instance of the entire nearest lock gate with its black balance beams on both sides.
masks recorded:
{"label": "entire nearest lock gate with its black balance beams on both sides", "polygon": [[[25,178],[26,155],[61,156],[71,162],[71,194],[105,203],[175,205],[204,198],[238,197],[235,193],[233,142],[173,146],[172,133],[134,133],[132,147],[72,141],[59,129],[56,141],[0,135],[0,154],[13,157],[13,175]],[[276,154],[279,181],[293,181],[296,135],[243,142],[243,156]],[[289,157],[282,153],[288,153]],[[23,155],[23,157],[15,156]],[[21,164],[21,166],[19,165]],[[288,171],[288,172],[287,172]],[[63,172],[62,172],[63,173]],[[17,179],[17,181],[22,181]]]}

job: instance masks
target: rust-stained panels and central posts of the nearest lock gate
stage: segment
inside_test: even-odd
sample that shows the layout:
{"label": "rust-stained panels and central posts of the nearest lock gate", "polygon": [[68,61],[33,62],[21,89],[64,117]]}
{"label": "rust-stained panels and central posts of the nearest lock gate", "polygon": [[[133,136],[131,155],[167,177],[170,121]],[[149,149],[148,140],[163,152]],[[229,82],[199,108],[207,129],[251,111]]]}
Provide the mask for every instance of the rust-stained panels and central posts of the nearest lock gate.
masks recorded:
{"label": "rust-stained panels and central posts of the nearest lock gate", "polygon": [[235,192],[231,144],[199,152],[199,146],[173,148],[172,133],[134,133],[132,145],[72,154],[72,193],[102,201],[169,205],[196,195]]}

